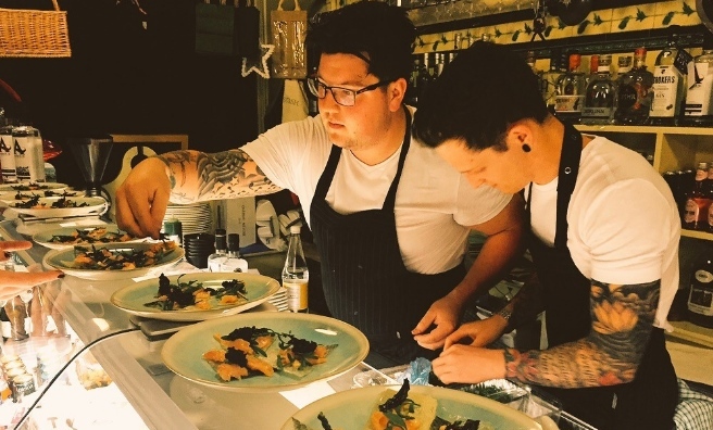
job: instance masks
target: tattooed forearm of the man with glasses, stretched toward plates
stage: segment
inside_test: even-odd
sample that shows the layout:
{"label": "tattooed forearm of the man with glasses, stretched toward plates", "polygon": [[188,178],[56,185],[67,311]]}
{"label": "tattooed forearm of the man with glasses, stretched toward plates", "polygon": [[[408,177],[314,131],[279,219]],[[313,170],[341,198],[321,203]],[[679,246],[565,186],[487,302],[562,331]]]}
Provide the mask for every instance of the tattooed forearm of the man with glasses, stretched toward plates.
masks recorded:
{"label": "tattooed forearm of the man with glasses, stretched toward plates", "polygon": [[173,202],[189,203],[279,191],[279,187],[267,179],[258,164],[239,149],[213,154],[173,151],[158,157],[167,166]]}

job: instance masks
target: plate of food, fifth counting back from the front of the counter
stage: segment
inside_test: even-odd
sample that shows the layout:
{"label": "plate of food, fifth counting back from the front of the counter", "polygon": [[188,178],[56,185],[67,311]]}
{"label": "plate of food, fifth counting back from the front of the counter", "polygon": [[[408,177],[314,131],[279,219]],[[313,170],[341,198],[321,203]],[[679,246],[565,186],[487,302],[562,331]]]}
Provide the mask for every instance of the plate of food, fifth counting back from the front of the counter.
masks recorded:
{"label": "plate of food, fifth counting back from the front of the counter", "polygon": [[61,227],[42,231],[33,236],[33,240],[42,246],[54,250],[74,248],[97,243],[142,242],[146,239],[135,238],[118,229],[115,224],[101,226]]}

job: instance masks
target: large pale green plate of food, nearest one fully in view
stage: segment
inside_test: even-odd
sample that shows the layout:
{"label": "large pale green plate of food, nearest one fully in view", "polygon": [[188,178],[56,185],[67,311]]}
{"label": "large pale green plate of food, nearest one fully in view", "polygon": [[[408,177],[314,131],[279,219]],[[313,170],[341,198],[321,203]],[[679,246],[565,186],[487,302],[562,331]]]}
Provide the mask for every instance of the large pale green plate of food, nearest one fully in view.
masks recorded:
{"label": "large pale green plate of food, nearest one fully in view", "polygon": [[166,341],[161,356],[172,371],[193,382],[230,391],[272,392],[337,377],[356,366],[367,352],[364,334],[340,320],[265,312],[186,327]]}

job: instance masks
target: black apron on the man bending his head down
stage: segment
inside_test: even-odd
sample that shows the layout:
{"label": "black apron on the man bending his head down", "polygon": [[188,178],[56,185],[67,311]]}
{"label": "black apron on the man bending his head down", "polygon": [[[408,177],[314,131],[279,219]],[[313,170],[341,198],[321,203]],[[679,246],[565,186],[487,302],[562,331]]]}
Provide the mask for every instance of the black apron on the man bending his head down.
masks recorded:
{"label": "black apron on the man bending his head down", "polygon": [[[581,143],[581,134],[566,124],[560,160],[554,246],[543,243],[531,231],[528,238],[529,251],[547,298],[549,347],[585,338],[591,330],[591,281],[577,269],[567,249],[566,216],[579,170]],[[530,185],[528,219],[531,191]],[[674,428],[678,385],[660,328],[653,328],[633,382],[613,387],[543,389],[562,401],[564,410],[599,430]]]}

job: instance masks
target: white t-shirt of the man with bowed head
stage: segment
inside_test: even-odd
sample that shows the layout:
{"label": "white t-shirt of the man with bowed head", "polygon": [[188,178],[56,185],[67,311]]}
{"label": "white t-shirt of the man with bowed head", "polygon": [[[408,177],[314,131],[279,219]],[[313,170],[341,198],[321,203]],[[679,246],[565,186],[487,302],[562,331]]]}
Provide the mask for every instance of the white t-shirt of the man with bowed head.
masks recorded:
{"label": "white t-shirt of the man with bowed head", "polygon": [[[671,189],[636,152],[595,137],[581,151],[567,211],[567,248],[588,279],[635,284],[661,279],[654,326],[671,330],[666,315],[678,289],[680,218]],[[533,185],[531,227],[554,243],[555,178]]]}

